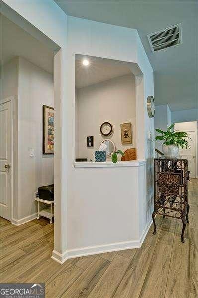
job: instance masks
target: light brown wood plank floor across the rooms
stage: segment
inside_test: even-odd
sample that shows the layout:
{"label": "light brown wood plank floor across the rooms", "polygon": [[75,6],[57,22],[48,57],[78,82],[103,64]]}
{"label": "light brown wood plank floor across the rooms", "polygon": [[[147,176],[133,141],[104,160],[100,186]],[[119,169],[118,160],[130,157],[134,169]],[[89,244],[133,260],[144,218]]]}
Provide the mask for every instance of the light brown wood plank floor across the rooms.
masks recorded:
{"label": "light brown wood plank floor across the rooms", "polygon": [[19,227],[1,218],[1,283],[45,283],[47,298],[198,298],[198,184],[189,182],[185,243],[181,221],[157,216],[141,248],[66,261],[51,259],[53,224]]}

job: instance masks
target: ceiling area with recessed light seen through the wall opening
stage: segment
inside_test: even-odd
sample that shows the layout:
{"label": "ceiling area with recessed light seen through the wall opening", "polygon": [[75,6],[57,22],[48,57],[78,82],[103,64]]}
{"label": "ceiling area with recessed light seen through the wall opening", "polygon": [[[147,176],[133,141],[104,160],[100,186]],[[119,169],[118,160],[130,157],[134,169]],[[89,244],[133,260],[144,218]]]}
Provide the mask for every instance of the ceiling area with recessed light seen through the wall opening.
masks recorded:
{"label": "ceiling area with recessed light seen through the wall opening", "polygon": [[[82,64],[84,59],[90,62],[88,66]],[[77,89],[126,74],[132,73],[124,63],[116,63],[111,59],[75,55],[75,87]]]}

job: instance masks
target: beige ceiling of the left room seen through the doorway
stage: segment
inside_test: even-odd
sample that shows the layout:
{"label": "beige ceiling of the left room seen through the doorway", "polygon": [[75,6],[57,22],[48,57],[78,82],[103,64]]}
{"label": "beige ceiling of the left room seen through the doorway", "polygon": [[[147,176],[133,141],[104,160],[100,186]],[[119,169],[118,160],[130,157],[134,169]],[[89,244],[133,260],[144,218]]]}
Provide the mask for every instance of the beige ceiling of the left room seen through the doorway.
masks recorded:
{"label": "beige ceiling of the left room seen through the doorway", "polygon": [[21,56],[53,73],[53,51],[9,19],[0,15],[0,64]]}

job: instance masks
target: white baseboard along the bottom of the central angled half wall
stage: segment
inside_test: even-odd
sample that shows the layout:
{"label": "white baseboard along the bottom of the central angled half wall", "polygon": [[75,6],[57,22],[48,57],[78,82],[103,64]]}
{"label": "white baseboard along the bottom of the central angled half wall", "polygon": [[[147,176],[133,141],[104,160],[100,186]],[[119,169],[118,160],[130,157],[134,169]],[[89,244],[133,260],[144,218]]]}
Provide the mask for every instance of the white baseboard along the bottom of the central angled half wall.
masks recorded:
{"label": "white baseboard along the bottom of the central angled half wall", "polygon": [[100,253],[105,253],[105,252],[124,250],[124,249],[140,248],[146,235],[147,235],[147,232],[148,232],[151,224],[152,224],[152,219],[149,221],[147,227],[143,231],[139,240],[124,241],[124,242],[117,242],[117,243],[110,243],[110,244],[96,245],[96,246],[88,246],[88,247],[82,247],[82,248],[77,248],[77,249],[69,249],[69,250],[66,250],[62,254],[60,254],[56,250],[53,250],[52,259],[60,264],[63,264],[66,260],[72,259],[72,258],[95,255],[95,254],[100,254]]}

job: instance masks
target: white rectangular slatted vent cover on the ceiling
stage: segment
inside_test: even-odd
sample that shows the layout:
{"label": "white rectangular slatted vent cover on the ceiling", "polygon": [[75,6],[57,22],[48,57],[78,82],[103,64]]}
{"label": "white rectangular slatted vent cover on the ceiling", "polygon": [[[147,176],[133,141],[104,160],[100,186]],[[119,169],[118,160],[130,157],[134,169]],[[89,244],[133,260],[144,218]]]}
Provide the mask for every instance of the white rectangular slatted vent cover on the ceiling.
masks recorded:
{"label": "white rectangular slatted vent cover on the ceiling", "polygon": [[151,33],[148,40],[153,52],[177,46],[182,43],[181,24]]}

